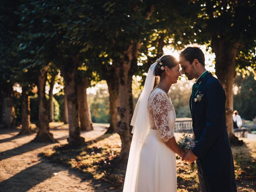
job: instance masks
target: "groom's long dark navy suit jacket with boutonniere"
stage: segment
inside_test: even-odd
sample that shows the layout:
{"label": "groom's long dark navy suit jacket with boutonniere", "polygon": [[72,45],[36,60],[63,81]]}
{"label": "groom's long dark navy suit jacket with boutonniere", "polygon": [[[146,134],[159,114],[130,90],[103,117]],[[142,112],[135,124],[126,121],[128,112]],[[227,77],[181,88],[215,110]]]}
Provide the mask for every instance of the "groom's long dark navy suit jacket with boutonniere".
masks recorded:
{"label": "groom's long dark navy suit jacket with boutonniere", "polygon": [[[195,102],[198,94],[203,94],[202,99]],[[192,152],[198,157],[196,163],[202,192],[236,192],[225,102],[222,85],[211,73],[203,78],[196,94],[190,97],[192,126],[198,141]]]}

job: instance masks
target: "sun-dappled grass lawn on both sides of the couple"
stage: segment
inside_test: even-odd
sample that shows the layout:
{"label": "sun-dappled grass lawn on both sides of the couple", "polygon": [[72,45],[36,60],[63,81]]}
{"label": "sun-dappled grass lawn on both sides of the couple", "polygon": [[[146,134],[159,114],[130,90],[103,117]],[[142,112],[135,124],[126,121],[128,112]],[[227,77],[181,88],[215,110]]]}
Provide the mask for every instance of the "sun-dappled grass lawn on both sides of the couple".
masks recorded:
{"label": "sun-dappled grass lawn on both sides of the couple", "polygon": [[[96,139],[86,138],[87,146],[69,148],[59,145],[42,154],[58,164],[86,172],[86,175],[122,189],[125,167],[118,168],[115,158],[121,150],[118,134],[106,134]],[[244,139],[244,146],[232,147],[236,181],[239,192],[256,189],[256,140]],[[178,192],[199,192],[197,172],[190,173],[189,165],[177,158]],[[120,166],[119,166],[120,167]],[[110,188],[111,190],[111,188]]]}

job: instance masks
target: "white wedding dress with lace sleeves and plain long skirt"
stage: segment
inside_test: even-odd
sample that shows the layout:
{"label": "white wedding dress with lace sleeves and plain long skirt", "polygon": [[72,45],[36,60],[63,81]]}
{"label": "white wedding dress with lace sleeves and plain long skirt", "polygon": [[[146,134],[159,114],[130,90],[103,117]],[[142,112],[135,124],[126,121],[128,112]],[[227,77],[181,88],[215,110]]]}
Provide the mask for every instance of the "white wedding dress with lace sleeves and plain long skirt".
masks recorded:
{"label": "white wedding dress with lace sleeves and plain long skirt", "polygon": [[138,192],[176,192],[176,154],[164,141],[174,137],[176,114],[169,96],[161,89],[148,99],[150,129],[141,148]]}

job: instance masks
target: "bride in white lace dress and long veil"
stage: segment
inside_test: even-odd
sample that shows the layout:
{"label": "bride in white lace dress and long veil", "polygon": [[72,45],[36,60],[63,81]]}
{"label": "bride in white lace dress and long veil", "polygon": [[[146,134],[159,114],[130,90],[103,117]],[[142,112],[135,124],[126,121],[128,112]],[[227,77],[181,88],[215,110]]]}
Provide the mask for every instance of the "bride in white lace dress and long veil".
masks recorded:
{"label": "bride in white lace dress and long veil", "polygon": [[[148,70],[132,116],[133,137],[123,192],[176,192],[176,155],[185,153],[174,137],[176,114],[168,91],[180,76],[176,58],[164,55]],[[159,84],[153,89],[155,76]]]}

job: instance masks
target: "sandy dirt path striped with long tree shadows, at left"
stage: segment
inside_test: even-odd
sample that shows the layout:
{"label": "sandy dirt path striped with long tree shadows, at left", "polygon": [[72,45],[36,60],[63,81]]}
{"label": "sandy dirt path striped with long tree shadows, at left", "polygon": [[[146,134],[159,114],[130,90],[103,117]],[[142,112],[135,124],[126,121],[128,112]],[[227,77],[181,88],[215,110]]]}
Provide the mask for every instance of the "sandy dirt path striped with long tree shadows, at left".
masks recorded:
{"label": "sandy dirt path striped with long tree shadows, at left", "polygon": [[[50,124],[50,132],[60,144],[67,143],[68,126]],[[103,134],[96,125],[93,131],[82,132],[85,138]],[[102,192],[106,184],[98,183],[88,175],[70,170],[38,156],[42,151],[59,144],[31,142],[36,134],[16,136],[18,129],[0,130],[0,191],[1,192]],[[117,191],[117,190],[111,190]]]}

